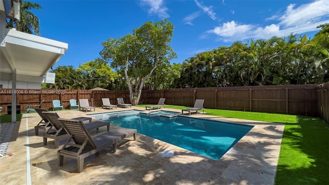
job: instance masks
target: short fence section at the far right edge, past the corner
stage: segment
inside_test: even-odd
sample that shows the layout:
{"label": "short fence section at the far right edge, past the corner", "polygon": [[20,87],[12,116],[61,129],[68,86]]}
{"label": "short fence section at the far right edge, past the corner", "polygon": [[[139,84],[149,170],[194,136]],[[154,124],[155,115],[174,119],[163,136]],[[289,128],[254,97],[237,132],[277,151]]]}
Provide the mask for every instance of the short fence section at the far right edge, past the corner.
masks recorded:
{"label": "short fence section at the far right edge, past the corner", "polygon": [[329,123],[329,82],[317,86],[319,115]]}

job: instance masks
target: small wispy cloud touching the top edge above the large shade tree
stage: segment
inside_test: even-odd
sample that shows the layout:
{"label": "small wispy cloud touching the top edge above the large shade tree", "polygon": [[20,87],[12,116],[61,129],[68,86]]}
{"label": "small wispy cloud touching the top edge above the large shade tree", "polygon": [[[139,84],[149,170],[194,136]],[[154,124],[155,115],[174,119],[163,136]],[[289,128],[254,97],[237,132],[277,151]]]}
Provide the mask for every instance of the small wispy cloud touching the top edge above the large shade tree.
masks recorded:
{"label": "small wispy cloud touching the top edge above the large shade tree", "polygon": [[149,6],[148,13],[153,15],[156,14],[160,18],[168,18],[170,15],[167,13],[168,8],[163,5],[163,0],[141,0],[142,6]]}

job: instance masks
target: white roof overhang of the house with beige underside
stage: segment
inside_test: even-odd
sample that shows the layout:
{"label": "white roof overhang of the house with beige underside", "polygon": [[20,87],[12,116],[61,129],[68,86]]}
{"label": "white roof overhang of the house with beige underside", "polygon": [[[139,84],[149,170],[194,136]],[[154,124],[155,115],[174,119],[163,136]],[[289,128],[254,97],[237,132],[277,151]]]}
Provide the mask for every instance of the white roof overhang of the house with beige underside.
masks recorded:
{"label": "white roof overhang of the house with beige underside", "polygon": [[30,76],[44,76],[56,64],[68,48],[67,43],[42,38],[15,29],[6,29],[1,43],[0,72]]}

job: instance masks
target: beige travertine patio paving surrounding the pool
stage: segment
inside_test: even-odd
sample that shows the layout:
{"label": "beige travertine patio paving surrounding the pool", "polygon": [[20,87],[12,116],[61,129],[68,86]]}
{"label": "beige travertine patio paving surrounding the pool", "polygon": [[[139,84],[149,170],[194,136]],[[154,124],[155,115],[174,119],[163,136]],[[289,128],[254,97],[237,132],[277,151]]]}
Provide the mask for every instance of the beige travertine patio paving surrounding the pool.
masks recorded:
{"label": "beige travertine patio paving surrounding the pool", "polygon": [[[124,109],[96,108],[95,112],[79,110],[57,111],[62,118]],[[180,110],[169,109],[180,112]],[[149,110],[148,110],[149,111]],[[152,110],[151,110],[152,111]],[[180,147],[141,134],[137,140],[127,140],[117,152],[104,150],[99,156],[85,159],[84,171],[77,173],[76,160],[64,158],[58,167],[57,150],[52,140],[43,145],[35,136],[34,126],[41,120],[38,114],[24,114],[16,123],[8,153],[0,158],[0,179],[4,184],[273,184],[280,153],[283,124],[240,120],[204,114],[191,117],[254,125],[220,160],[213,160]],[[246,118],[248,119],[248,118]],[[93,120],[96,120],[93,118]],[[111,125],[115,126],[115,125]],[[111,129],[111,128],[110,128]],[[100,128],[98,134],[106,131]],[[40,130],[39,135],[42,135]],[[132,138],[128,138],[132,139]],[[60,144],[64,144],[63,140]],[[61,148],[61,146],[60,146]],[[174,156],[163,157],[163,151]]]}

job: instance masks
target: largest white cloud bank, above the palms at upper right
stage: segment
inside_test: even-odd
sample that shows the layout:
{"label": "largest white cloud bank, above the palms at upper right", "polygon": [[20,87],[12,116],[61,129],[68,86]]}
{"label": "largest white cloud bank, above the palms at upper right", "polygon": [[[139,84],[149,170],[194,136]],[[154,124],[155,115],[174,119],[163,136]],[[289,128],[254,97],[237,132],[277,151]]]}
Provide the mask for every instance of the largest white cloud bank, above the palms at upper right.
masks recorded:
{"label": "largest white cloud bank, above the palms at upper right", "polygon": [[329,22],[329,1],[318,0],[297,8],[289,5],[283,15],[273,15],[267,20],[277,20],[278,24],[259,26],[242,24],[235,21],[223,23],[207,33],[214,33],[226,42],[246,39],[270,39],[272,36],[283,37],[290,33],[301,34],[316,31],[317,26]]}

